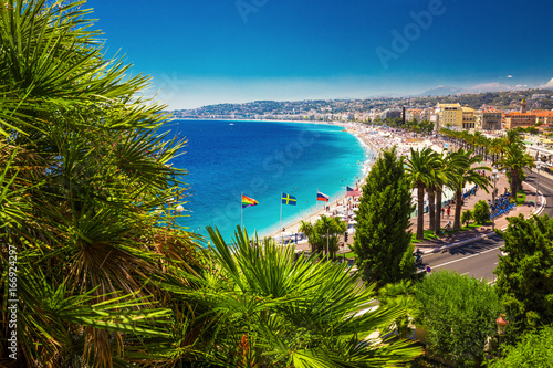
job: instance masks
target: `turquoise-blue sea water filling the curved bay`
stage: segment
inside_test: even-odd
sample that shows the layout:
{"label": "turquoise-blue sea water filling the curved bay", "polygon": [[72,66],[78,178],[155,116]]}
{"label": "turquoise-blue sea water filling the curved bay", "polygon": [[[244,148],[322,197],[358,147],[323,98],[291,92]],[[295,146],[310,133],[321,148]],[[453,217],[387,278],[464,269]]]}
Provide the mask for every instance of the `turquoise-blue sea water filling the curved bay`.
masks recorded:
{"label": "turquoise-blue sea water filling the curved bay", "polygon": [[[177,222],[207,241],[206,227],[227,242],[242,223],[267,236],[321,209],[317,191],[331,202],[356,187],[373,153],[342,126],[247,120],[171,120],[168,137],[186,138],[173,159],[186,169],[185,212]],[[296,206],[282,204],[282,193]],[[241,196],[258,201],[241,208]],[[281,217],[282,210],[282,219]]]}

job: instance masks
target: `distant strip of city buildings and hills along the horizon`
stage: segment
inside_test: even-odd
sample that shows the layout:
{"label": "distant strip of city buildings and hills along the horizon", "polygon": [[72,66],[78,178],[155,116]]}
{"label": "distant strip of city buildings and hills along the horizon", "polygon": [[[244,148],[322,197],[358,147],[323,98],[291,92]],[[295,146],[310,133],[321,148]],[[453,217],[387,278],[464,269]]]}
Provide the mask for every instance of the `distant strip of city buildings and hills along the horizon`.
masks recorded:
{"label": "distant strip of city buildings and hills along the horizon", "polygon": [[[533,91],[539,93],[532,93]],[[406,122],[415,120],[420,123],[428,120],[434,124],[436,129],[488,132],[535,127],[541,132],[553,132],[553,91],[526,91],[522,94],[525,97],[519,99],[517,99],[517,96],[520,97],[520,91],[505,92],[503,95],[495,94],[497,96],[490,96],[491,94],[488,93],[447,97],[379,97],[298,102],[258,101],[246,104],[220,104],[197,109],[175,111],[171,114],[175,118],[192,119],[371,123],[403,119],[405,112]],[[501,107],[489,104],[487,101],[500,101]]]}

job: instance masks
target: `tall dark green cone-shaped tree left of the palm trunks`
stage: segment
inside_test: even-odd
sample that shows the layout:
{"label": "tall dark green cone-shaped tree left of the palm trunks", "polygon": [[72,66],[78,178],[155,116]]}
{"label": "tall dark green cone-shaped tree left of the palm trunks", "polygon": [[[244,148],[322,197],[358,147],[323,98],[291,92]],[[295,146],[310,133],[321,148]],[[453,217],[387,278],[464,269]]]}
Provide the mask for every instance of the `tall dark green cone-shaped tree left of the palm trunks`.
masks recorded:
{"label": "tall dark green cone-shaped tree left of the palm trunks", "polygon": [[384,150],[363,186],[353,244],[365,281],[377,287],[411,277],[415,271],[409,217],[410,183],[396,148]]}

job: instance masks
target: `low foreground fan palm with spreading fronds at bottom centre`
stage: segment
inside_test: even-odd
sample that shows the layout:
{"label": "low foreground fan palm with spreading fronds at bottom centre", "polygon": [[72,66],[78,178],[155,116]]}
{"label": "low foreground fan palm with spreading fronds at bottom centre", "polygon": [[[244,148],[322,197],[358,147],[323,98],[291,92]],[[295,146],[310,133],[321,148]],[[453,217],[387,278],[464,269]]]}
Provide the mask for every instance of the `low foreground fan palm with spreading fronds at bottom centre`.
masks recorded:
{"label": "low foreground fan palm with spreading fronds at bottom centre", "polygon": [[[238,229],[239,230],[239,229]],[[371,335],[388,330],[405,314],[397,305],[375,304],[374,286],[358,287],[345,264],[317,262],[312,254],[294,262],[293,246],[236,233],[225,241],[208,228],[211,266],[195,287],[171,288],[198,306],[198,319],[212,327],[212,344],[199,362],[217,367],[397,366],[420,354],[403,339]],[[216,270],[216,275],[211,270]],[[359,313],[359,311],[367,311]],[[385,344],[383,344],[385,343]]]}

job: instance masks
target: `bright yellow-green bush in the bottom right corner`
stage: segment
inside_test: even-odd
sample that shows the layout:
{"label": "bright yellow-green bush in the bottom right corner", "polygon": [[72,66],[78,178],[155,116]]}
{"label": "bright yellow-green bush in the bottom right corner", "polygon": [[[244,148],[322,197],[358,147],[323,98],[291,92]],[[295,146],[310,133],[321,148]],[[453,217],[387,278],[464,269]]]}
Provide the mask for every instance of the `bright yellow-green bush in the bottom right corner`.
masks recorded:
{"label": "bright yellow-green bush in the bottom right corner", "polygon": [[553,327],[522,335],[515,346],[508,346],[504,358],[494,360],[491,368],[534,368],[553,367]]}

